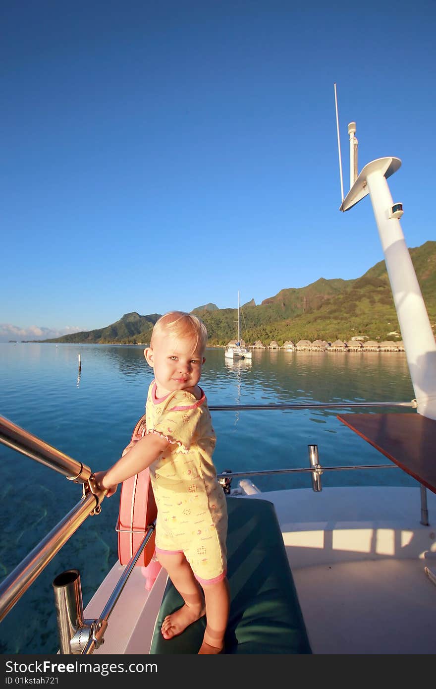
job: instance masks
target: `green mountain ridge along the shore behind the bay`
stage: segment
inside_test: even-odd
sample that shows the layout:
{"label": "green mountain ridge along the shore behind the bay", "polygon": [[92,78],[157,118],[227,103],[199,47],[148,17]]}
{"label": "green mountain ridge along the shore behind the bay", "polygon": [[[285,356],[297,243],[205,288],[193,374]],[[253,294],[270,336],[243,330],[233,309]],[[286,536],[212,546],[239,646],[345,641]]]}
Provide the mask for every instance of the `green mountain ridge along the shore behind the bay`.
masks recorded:
{"label": "green mountain ridge along the shore behind the bay", "polygon": [[[424,301],[434,327],[436,322],[436,242],[410,249]],[[320,278],[307,287],[282,289],[256,306],[254,300],[241,307],[241,337],[268,345],[277,340],[349,340],[366,335],[371,340],[399,339],[399,324],[384,260],[354,280]],[[218,309],[215,304],[192,311],[205,322],[209,345],[225,345],[238,334],[238,309]],[[75,333],[45,342],[149,342],[157,313],[139,316],[127,313],[101,330]]]}

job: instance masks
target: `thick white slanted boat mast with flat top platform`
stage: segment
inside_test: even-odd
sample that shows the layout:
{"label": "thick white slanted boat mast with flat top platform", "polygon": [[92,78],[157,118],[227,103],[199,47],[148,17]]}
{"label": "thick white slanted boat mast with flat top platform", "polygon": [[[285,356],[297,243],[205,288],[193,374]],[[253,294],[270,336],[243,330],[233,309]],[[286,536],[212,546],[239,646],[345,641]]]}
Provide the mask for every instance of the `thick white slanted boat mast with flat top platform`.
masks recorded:
{"label": "thick white slanted boat mast with flat top platform", "polygon": [[[351,163],[357,160],[355,123],[349,124]],[[353,160],[354,158],[354,160]],[[399,158],[377,158],[365,165],[355,178],[351,170],[351,189],[342,201],[341,211],[347,211],[369,194],[373,205],[386,269],[399,327],[402,332],[408,369],[417,402],[417,412],[436,420],[436,342],[419,287],[411,255],[404,240],[399,218],[402,203],[393,203],[386,178],[399,169]],[[354,167],[354,165],[353,165]],[[353,183],[353,177],[355,181]]]}

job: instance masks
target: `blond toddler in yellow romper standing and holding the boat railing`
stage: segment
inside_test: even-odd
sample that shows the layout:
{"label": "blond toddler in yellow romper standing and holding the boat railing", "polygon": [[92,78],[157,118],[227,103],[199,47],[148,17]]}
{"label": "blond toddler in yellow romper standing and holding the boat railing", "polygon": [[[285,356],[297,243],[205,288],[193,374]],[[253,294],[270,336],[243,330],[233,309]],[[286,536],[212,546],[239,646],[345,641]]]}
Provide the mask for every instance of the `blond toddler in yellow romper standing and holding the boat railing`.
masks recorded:
{"label": "blond toddler in yellow romper standing and holding the boat railing", "polygon": [[154,369],[145,407],[147,433],[125,448],[96,484],[116,492],[118,483],[149,466],[158,508],[156,555],[185,604],[165,617],[164,639],[181,634],[206,615],[200,654],[223,652],[229,616],[227,507],[211,456],[216,437],[205,393],[198,386],[207,331],[196,316],[171,311],[154,325],[144,350]]}

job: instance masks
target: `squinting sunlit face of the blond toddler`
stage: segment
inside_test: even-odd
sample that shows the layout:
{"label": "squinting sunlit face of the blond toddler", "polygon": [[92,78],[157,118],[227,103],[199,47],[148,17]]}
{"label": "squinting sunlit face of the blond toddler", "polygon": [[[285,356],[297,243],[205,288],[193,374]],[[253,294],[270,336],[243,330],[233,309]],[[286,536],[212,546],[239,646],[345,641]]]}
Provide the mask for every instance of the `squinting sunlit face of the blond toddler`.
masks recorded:
{"label": "squinting sunlit face of the blond toddler", "polygon": [[194,347],[190,338],[174,338],[163,331],[153,338],[153,348],[144,350],[147,363],[154,369],[158,397],[196,386],[205,357]]}

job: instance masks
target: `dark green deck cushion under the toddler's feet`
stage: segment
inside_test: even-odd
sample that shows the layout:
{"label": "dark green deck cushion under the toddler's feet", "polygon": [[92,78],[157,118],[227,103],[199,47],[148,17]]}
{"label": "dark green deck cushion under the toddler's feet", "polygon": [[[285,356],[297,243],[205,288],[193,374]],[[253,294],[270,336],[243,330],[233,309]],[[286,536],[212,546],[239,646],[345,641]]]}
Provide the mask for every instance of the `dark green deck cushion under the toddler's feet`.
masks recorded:
{"label": "dark green deck cushion under the toddler's feet", "polygon": [[[231,604],[227,654],[311,653],[295,584],[271,502],[227,497],[227,559]],[[183,634],[164,639],[163,619],[183,605],[170,579],[160,606],[150,653],[198,653],[205,617]]]}

